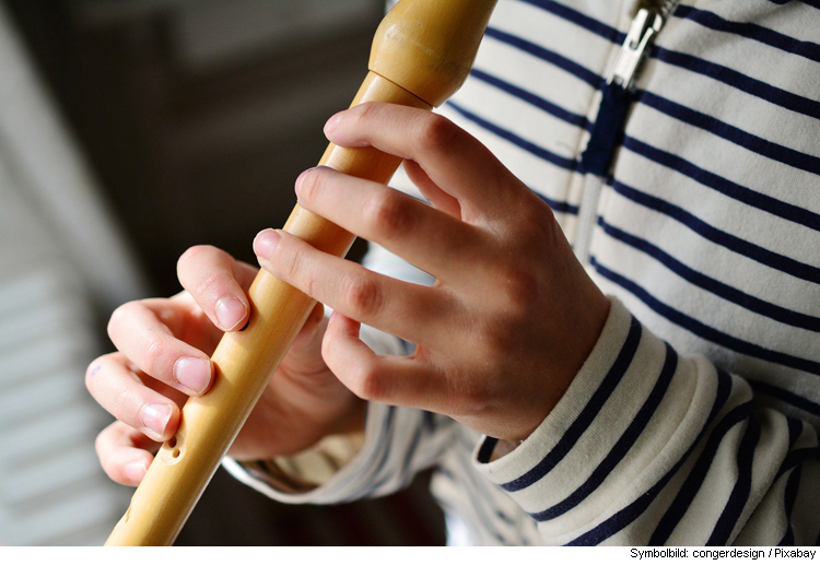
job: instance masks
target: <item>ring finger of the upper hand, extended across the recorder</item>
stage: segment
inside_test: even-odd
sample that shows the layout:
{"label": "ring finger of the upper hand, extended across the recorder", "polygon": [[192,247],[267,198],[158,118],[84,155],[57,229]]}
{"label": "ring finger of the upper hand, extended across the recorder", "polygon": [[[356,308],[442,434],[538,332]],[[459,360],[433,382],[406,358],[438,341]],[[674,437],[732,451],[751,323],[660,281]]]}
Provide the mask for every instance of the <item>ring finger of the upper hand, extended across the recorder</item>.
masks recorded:
{"label": "ring finger of the upper hand, extended across the recorder", "polygon": [[333,257],[282,231],[262,231],[254,242],[261,266],[345,316],[412,342],[441,342],[433,320],[456,308],[443,290],[406,283]]}

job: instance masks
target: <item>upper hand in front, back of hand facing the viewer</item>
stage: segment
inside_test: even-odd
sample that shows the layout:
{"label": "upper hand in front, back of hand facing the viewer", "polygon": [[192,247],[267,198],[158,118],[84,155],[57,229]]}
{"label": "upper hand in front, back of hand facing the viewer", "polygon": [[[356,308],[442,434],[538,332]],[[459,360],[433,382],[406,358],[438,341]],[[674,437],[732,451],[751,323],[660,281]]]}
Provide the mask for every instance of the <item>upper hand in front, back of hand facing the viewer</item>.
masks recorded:
{"label": "upper hand in front, back of hand facing the viewer", "polygon": [[[338,145],[405,158],[432,207],[329,168],[303,173],[300,204],[437,280],[400,282],[282,231],[261,232],[261,266],[336,311],[323,341],[327,366],[362,399],[526,438],[569,388],[609,311],[552,212],[435,114],[372,103],[333,116],[325,131]],[[415,354],[376,355],[359,339],[360,322],[415,343]]]}

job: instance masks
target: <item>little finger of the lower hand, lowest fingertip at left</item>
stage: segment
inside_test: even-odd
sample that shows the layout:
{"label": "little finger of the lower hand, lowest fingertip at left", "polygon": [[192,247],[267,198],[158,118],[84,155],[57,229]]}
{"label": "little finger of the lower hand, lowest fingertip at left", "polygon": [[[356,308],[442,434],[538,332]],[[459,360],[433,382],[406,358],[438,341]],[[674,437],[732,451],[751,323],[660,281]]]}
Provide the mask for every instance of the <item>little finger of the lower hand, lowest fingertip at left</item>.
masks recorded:
{"label": "little finger of the lower hand, lowest fingertip at left", "polygon": [[97,435],[95,448],[105,473],[121,485],[137,486],[154,460],[159,444],[116,421]]}

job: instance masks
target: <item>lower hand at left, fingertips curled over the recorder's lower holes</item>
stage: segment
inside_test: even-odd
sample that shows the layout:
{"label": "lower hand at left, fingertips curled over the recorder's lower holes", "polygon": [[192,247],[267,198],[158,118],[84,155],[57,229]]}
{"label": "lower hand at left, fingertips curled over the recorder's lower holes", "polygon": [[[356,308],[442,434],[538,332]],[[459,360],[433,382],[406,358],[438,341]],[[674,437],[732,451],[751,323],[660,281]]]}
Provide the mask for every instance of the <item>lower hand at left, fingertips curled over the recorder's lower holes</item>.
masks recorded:
{"label": "lower hand at left, fingertips curled over the recorder's lower holes", "polygon": [[[96,448],[108,476],[122,484],[139,484],[152,452],[176,433],[185,400],[208,390],[209,355],[222,332],[247,321],[245,293],[255,268],[200,246],[179,259],[178,275],[183,293],[128,303],[114,313],[108,334],[118,352],[101,356],[86,372],[92,396],[118,419],[99,434]],[[229,455],[289,455],[326,435],[363,427],[364,402],[321,360],[326,325],[317,305]]]}

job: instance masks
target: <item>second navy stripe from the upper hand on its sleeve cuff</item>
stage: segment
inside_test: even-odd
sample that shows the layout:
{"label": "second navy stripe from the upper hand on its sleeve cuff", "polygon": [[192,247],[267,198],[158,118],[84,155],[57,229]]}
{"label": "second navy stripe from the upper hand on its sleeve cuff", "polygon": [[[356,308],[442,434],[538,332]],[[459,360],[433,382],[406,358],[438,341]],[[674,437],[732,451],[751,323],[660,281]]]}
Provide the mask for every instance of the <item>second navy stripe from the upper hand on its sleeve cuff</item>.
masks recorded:
{"label": "second navy stripe from the upper hand on its sleeve cuff", "polygon": [[609,476],[609,473],[612,472],[618,463],[623,460],[626,452],[629,452],[632,446],[637,441],[637,438],[646,429],[649,420],[655,415],[655,411],[660,404],[660,401],[664,400],[664,396],[669,389],[669,384],[672,381],[675,370],[678,367],[677,353],[668,343],[665,344],[666,361],[664,362],[664,368],[660,370],[660,375],[658,376],[652,392],[646,398],[646,401],[643,407],[641,407],[641,410],[637,412],[632,423],[630,423],[630,426],[623,432],[621,438],[618,439],[618,443],[614,444],[600,464],[595,468],[593,474],[590,474],[589,478],[570,496],[546,510],[531,513],[530,516],[536,521],[549,521],[550,519],[554,519],[576,507],[581,502],[591,495],[601,483],[604,483],[607,476]]}

